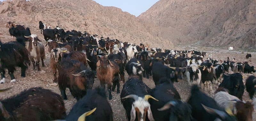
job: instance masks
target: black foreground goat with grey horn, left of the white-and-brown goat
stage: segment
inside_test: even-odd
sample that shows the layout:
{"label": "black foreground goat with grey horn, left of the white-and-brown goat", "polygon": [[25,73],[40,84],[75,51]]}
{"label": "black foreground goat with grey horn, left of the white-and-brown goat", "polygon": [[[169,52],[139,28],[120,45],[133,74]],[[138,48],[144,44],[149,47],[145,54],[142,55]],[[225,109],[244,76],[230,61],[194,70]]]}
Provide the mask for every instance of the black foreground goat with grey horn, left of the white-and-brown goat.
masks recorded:
{"label": "black foreground goat with grey horn, left of the white-and-brown goat", "polygon": [[198,121],[236,121],[230,108],[220,108],[211,97],[201,92],[197,85],[191,87],[188,104],[191,105],[192,117]]}

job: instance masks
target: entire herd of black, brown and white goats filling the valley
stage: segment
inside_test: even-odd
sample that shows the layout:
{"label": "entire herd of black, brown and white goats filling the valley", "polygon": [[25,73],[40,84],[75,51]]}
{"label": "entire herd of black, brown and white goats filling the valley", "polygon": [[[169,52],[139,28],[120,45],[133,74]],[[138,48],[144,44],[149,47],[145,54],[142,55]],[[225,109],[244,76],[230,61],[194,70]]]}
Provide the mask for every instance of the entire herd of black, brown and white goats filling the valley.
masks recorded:
{"label": "entire herd of black, brown and white goats filling the valley", "polygon": [[[15,82],[16,67],[21,67],[21,77],[25,77],[31,62],[33,69],[37,67],[39,71],[40,60],[44,66],[45,58],[44,45],[28,27],[13,22],[7,26],[16,41],[0,42],[1,84],[5,83],[5,69],[11,82]],[[58,83],[61,96],[42,87],[24,90],[1,100],[1,121],[113,121],[105,85],[111,100],[115,87],[120,93],[120,80],[124,84],[120,100],[129,121],[256,121],[256,77],[250,76],[244,86],[241,74],[255,72],[248,62],[236,63],[235,58],[228,57],[218,64],[206,52],[149,49],[148,45],[98,38],[87,32],[65,32],[59,26],[46,28],[42,21],[39,29],[47,42],[45,46],[49,46],[53,82]],[[246,55],[249,57],[251,54]],[[229,67],[235,73],[228,74]],[[128,73],[127,81],[124,70]],[[172,85],[183,75],[191,86],[187,102],[181,100]],[[142,81],[149,76],[155,82],[154,89]],[[98,78],[101,86],[92,89],[94,78]],[[212,98],[200,88],[212,92],[213,84],[219,87]],[[243,101],[245,87],[252,101]],[[77,99],[68,115],[63,102],[67,100],[66,88]]]}

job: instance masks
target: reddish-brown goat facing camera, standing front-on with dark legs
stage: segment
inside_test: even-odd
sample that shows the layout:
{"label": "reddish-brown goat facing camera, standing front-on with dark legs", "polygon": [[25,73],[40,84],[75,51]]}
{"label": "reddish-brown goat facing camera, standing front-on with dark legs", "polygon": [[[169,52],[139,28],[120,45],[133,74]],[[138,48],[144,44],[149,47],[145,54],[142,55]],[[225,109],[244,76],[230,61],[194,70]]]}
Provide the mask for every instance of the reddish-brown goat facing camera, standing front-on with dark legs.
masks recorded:
{"label": "reddish-brown goat facing camera, standing front-on with dark legs", "polygon": [[119,72],[119,66],[116,62],[111,62],[110,60],[108,60],[107,56],[98,56],[97,77],[100,80],[100,85],[102,87],[105,87],[105,84],[108,85],[109,100],[112,99],[111,87],[114,81],[115,83],[117,83],[117,93],[120,92],[119,80],[117,79],[118,81],[116,82],[115,79],[115,77],[118,76]]}

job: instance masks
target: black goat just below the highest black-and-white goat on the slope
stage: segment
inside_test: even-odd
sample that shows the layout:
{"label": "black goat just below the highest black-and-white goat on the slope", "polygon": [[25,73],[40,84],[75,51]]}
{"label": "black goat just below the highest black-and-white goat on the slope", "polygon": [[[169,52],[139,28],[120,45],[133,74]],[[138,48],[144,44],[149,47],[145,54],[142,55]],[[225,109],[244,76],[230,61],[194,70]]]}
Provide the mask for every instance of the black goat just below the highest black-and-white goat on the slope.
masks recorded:
{"label": "black goat just below the highest black-and-white goat on the slope", "polygon": [[44,40],[48,41],[48,40],[56,40],[57,39],[57,29],[44,29],[43,31],[43,35],[44,35]]}

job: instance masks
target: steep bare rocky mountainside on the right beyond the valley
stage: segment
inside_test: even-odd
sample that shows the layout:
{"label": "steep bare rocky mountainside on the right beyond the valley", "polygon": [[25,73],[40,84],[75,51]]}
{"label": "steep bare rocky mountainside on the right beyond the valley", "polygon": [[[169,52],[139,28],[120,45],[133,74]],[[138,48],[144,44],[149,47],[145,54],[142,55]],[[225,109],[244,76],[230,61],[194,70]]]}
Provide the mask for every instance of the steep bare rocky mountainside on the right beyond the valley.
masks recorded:
{"label": "steep bare rocky mountainside on the right beyond the valley", "polygon": [[138,18],[175,45],[256,47],[255,0],[160,0]]}

